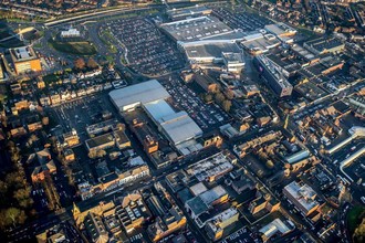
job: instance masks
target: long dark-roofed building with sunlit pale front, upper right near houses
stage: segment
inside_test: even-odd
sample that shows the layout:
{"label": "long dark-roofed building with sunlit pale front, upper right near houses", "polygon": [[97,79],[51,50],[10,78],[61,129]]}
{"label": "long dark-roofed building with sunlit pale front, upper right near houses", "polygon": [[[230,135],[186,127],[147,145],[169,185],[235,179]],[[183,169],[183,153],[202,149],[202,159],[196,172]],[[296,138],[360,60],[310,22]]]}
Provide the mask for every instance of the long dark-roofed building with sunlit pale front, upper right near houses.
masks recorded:
{"label": "long dark-roofed building with sunlit pale front, upper right near houses", "polygon": [[345,49],[345,43],[336,38],[317,38],[304,42],[303,45],[314,54],[338,53]]}

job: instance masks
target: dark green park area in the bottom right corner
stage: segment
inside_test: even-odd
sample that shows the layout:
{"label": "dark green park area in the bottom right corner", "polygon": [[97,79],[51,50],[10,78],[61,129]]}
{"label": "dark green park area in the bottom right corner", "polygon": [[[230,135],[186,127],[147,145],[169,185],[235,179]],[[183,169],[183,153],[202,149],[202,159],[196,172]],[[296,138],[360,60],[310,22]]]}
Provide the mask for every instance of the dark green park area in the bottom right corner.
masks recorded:
{"label": "dark green park area in the bottom right corner", "polygon": [[356,205],[347,214],[347,224],[350,235],[353,242],[365,241],[365,207]]}

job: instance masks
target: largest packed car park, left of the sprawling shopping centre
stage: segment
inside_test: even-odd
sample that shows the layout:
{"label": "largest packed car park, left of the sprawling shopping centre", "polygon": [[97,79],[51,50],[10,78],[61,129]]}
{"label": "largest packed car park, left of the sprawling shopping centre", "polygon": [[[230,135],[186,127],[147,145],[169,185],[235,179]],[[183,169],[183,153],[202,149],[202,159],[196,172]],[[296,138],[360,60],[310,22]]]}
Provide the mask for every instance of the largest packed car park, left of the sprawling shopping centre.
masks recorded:
{"label": "largest packed car park, left of the sprawling shopping centre", "polygon": [[122,42],[126,62],[143,74],[158,76],[184,66],[182,54],[175,43],[146,18],[119,19],[102,28]]}

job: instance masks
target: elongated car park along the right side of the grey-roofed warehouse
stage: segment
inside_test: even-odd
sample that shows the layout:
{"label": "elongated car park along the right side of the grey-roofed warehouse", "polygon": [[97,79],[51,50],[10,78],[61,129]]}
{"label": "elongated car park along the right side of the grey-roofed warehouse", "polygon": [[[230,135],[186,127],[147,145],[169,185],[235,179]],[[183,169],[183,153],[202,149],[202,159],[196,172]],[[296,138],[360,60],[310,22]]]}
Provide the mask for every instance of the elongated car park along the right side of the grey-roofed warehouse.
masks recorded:
{"label": "elongated car park along the right side of the grey-roofed warehouse", "polygon": [[229,120],[229,116],[216,104],[206,104],[179,77],[160,81],[171,95],[175,106],[186,110],[202,130],[215,129]]}

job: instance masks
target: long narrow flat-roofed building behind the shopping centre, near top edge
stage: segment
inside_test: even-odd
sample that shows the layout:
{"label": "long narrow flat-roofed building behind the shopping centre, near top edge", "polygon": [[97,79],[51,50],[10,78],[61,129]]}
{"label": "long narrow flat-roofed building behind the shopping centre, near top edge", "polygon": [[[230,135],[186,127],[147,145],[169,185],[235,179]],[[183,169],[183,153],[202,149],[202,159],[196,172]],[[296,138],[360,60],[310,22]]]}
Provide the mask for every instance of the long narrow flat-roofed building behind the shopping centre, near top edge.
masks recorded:
{"label": "long narrow flat-roofed building behind the shopping centre, near top edge", "polygon": [[171,20],[181,20],[187,18],[209,15],[210,13],[211,9],[205,6],[194,6],[188,8],[167,10],[167,14]]}

